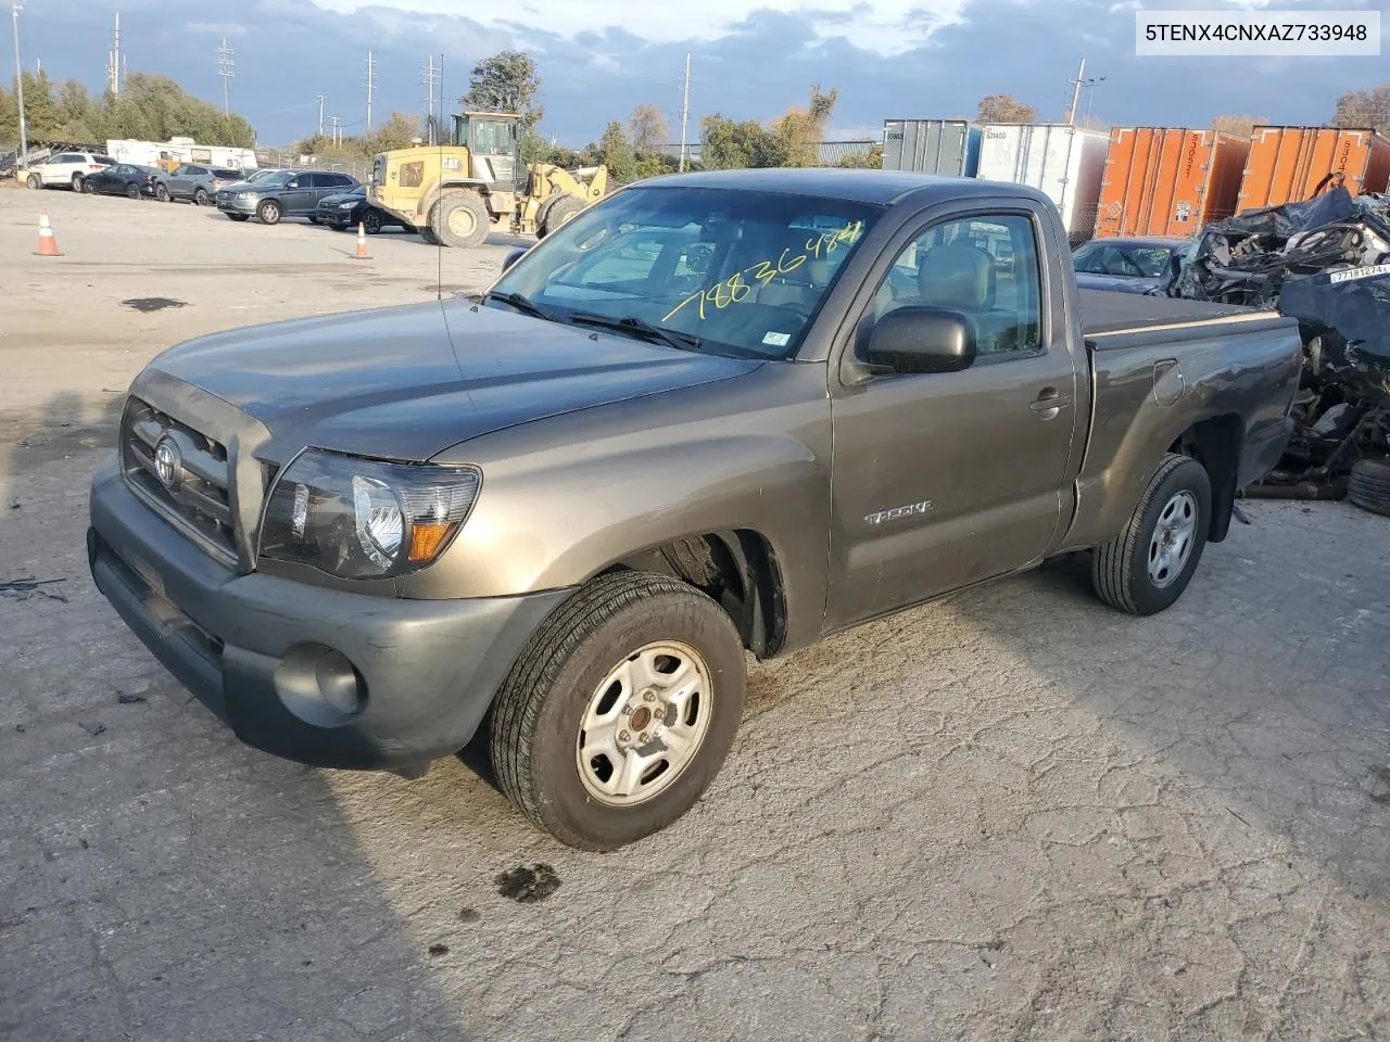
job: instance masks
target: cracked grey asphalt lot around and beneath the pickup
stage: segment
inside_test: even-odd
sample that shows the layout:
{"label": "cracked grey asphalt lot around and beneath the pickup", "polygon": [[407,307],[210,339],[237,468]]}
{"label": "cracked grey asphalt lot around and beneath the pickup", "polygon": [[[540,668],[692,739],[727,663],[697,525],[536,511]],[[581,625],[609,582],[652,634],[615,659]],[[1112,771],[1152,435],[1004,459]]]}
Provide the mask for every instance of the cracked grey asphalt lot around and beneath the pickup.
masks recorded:
{"label": "cracked grey asphalt lot around and beneath the pickup", "polygon": [[110,389],[196,332],[424,299],[434,253],[42,201],[58,261],[0,190],[0,582],[61,579],[0,596],[0,1036],[1390,1036],[1384,518],[1252,502],[1155,618],[1063,563],[759,665],[706,797],[580,854],[475,757],[239,746],[86,575]]}

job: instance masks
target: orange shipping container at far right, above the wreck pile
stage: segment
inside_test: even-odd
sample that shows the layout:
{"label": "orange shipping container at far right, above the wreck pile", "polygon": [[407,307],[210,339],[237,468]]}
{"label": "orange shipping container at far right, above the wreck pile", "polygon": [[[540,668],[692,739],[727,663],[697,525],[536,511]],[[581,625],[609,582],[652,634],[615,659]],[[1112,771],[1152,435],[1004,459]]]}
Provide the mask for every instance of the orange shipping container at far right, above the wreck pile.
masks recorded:
{"label": "orange shipping container at far right, above the wreck pile", "polygon": [[1240,210],[1311,197],[1340,174],[1351,195],[1384,192],[1390,140],[1375,131],[1329,126],[1257,126],[1240,183]]}

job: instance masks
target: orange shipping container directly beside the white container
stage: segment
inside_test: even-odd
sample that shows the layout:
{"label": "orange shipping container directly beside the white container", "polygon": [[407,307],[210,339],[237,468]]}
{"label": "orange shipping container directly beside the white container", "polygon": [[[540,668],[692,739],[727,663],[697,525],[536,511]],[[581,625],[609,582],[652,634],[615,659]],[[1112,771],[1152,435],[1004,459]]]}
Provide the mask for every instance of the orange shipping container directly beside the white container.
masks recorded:
{"label": "orange shipping container directly beside the white container", "polygon": [[1250,140],[1184,126],[1116,126],[1101,182],[1097,238],[1195,235],[1236,213]]}

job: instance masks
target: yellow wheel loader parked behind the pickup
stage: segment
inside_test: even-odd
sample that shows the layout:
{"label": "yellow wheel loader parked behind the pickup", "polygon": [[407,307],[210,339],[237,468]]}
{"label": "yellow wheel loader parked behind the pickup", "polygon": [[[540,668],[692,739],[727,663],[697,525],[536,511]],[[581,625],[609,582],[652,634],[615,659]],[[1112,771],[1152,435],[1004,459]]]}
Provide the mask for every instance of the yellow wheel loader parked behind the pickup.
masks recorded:
{"label": "yellow wheel loader parked behind the pickup", "polygon": [[546,236],[607,195],[607,167],[521,161],[521,117],[461,113],[449,140],[377,156],[367,190],[431,245],[480,246],[491,231]]}

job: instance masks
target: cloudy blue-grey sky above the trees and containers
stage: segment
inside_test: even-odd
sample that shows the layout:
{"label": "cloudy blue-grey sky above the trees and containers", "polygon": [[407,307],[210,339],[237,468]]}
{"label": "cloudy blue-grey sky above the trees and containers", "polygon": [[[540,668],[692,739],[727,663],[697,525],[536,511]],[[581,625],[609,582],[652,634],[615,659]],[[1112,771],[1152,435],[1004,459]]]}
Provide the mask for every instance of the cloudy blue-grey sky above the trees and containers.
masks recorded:
{"label": "cloudy blue-grey sky above the trees and containers", "polygon": [[[7,4],[8,6],[8,4]],[[702,114],[770,118],[812,82],[840,89],[834,136],[892,117],[973,114],[1011,93],[1059,118],[1084,56],[1105,76],[1091,97],[1116,125],[1202,125],[1238,113],[1322,122],[1337,94],[1390,82],[1384,58],[1137,58],[1133,0],[26,0],[26,68],[104,82],[121,13],[128,68],[163,72],[221,99],[217,46],[235,50],[232,106],[265,144],[317,129],[317,94],[350,133],[366,119],[366,58],[377,61],[375,114],[424,110],[427,57],[443,56],[445,90],[467,89],[473,63],[505,47],[539,64],[542,129],[562,143],[596,139],[607,119],[653,103],[680,108],[691,53],[692,128]],[[1269,7],[1268,0],[1145,3],[1150,8]],[[1380,10],[1390,0],[1279,0],[1291,10]],[[1390,18],[1384,19],[1390,29]],[[4,76],[11,47],[0,47]],[[694,133],[695,131],[692,131]]]}

